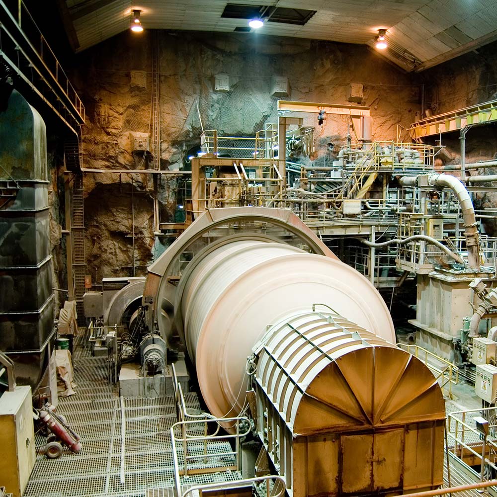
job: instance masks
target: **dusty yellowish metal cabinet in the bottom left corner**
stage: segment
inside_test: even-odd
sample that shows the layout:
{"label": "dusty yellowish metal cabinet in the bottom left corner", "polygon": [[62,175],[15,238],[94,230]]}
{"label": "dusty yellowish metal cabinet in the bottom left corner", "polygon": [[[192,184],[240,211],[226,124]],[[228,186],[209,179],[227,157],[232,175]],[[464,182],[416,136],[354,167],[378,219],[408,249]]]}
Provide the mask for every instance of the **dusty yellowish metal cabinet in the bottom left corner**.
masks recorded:
{"label": "dusty yellowish metal cabinet in the bottom left corner", "polygon": [[0,453],[0,482],[21,497],[36,459],[31,387],[18,386],[0,397]]}

